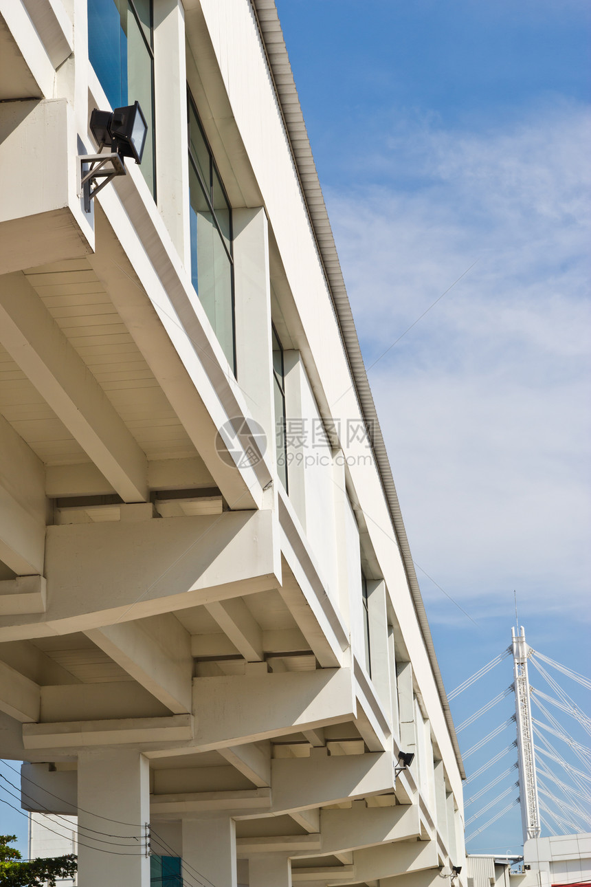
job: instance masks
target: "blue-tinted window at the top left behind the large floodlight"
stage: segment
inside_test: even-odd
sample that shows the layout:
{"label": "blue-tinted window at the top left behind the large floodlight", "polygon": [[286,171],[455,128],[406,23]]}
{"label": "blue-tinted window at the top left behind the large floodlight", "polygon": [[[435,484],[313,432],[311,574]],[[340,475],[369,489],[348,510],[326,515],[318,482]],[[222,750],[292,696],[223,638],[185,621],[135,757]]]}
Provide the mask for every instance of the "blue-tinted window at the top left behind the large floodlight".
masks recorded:
{"label": "blue-tinted window at the top left behind the large floodlight", "polygon": [[88,0],[89,59],[112,108],[142,106],[148,135],[140,169],[156,193],[152,0]]}

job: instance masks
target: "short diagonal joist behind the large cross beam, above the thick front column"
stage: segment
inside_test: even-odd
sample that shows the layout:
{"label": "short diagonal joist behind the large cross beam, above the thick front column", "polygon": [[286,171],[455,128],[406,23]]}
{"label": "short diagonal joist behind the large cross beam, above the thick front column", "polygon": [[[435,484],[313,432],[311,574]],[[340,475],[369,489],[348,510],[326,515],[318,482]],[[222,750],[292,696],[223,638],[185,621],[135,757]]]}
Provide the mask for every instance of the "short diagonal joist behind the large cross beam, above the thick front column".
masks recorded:
{"label": "short diagonal joist behind the large cross beam, above the thick front column", "polygon": [[191,712],[191,635],[172,613],[85,633],[173,714]]}

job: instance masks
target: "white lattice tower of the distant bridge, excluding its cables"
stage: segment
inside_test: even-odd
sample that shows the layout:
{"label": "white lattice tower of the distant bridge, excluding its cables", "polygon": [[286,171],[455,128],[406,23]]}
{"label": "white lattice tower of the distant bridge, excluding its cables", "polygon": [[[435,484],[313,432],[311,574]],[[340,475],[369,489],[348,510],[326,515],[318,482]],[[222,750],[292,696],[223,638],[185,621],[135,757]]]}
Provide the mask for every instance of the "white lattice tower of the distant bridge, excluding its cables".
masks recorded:
{"label": "white lattice tower of the distant bridge, excluding its cables", "polygon": [[528,838],[540,837],[540,805],[538,802],[538,782],[535,774],[535,753],[533,750],[532,704],[530,701],[529,680],[527,678],[527,656],[529,647],[525,643],[525,629],[521,626],[516,635],[511,628],[513,646],[513,672],[515,675],[515,720],[517,725],[517,749],[519,750],[519,799],[521,801],[521,823],[524,842]]}

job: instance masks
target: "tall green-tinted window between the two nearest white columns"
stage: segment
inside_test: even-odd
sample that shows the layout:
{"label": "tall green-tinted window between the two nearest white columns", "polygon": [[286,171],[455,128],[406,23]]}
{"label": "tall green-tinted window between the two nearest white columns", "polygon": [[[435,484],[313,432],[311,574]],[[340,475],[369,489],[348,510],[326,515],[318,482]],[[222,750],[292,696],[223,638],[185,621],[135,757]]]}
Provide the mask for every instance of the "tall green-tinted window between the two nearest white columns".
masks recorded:
{"label": "tall green-tinted window between the two nearest white columns", "polygon": [[236,373],[232,211],[189,96],[191,282]]}

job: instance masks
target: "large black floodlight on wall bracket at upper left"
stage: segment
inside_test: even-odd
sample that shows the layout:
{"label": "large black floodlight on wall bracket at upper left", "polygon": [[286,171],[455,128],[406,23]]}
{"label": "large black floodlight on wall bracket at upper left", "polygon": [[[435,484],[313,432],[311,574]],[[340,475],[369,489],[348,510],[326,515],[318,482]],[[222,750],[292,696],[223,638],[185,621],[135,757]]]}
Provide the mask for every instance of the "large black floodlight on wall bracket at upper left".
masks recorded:
{"label": "large black floodlight on wall bracket at upper left", "polygon": [[[114,111],[94,109],[90,114],[90,132],[100,145],[97,154],[82,154],[78,192],[84,194],[84,209],[90,212],[90,200],[115,176],[125,176],[124,157],[142,162],[148,124],[139,102]],[[102,153],[110,147],[110,153]],[[86,168],[85,168],[86,165]],[[98,184],[98,179],[103,181]]]}

